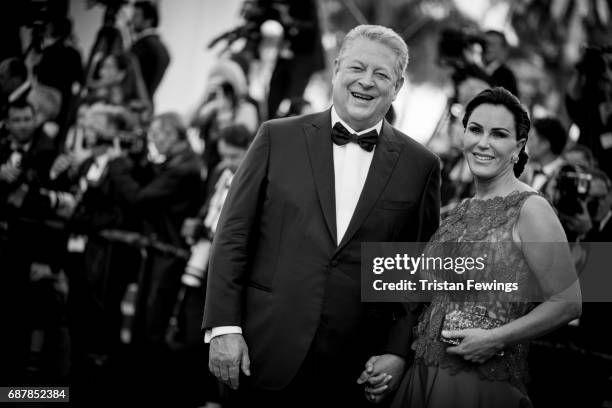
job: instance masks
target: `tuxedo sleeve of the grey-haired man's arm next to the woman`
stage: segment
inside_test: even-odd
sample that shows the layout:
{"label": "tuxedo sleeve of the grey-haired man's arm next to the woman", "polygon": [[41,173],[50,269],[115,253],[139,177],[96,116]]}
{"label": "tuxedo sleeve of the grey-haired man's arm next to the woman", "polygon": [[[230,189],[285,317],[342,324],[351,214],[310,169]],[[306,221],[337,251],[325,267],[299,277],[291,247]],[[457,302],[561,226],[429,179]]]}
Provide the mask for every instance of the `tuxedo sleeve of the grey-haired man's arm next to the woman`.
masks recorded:
{"label": "tuxedo sleeve of the grey-haired man's arm next to the woman", "polygon": [[[437,160],[432,164],[427,182],[421,194],[419,206],[418,241],[427,242],[438,229],[440,223],[440,165]],[[422,310],[421,303],[405,303],[396,308],[396,321],[389,332],[386,353],[407,358],[412,343],[412,328],[416,326]]]}

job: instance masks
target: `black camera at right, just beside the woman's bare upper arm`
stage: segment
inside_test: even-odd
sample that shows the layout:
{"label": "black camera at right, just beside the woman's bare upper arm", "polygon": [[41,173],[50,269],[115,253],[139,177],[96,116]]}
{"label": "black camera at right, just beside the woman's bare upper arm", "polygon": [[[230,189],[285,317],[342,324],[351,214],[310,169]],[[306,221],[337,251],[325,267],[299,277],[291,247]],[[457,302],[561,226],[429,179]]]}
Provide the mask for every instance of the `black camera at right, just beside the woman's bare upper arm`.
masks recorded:
{"label": "black camera at right, just beside the woman's bare upper arm", "polygon": [[566,164],[555,178],[553,205],[565,215],[576,215],[582,212],[583,202],[589,195],[593,176],[579,166]]}

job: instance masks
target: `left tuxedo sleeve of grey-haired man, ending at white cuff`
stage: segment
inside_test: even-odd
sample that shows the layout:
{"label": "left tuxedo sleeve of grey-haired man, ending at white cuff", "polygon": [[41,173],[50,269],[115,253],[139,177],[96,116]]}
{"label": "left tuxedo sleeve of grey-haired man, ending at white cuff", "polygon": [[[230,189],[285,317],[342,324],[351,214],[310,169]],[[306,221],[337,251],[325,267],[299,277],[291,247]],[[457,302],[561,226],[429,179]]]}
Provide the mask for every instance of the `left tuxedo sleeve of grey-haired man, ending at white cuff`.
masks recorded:
{"label": "left tuxedo sleeve of grey-haired man, ending at white cuff", "polygon": [[242,292],[257,244],[270,152],[264,123],[236,172],[221,211],[208,269],[203,329],[240,326]]}

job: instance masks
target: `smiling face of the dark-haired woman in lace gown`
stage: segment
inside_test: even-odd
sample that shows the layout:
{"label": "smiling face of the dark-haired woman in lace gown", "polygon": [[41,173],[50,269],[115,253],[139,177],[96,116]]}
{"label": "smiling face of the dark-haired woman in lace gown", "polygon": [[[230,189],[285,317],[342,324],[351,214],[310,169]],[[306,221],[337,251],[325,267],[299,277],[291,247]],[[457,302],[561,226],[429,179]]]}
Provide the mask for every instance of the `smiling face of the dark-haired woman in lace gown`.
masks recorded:
{"label": "smiling face of the dark-haired woman in lace gown", "polygon": [[503,105],[479,105],[463,134],[463,153],[474,177],[488,180],[511,172],[512,157],[525,139],[516,140],[514,116]]}

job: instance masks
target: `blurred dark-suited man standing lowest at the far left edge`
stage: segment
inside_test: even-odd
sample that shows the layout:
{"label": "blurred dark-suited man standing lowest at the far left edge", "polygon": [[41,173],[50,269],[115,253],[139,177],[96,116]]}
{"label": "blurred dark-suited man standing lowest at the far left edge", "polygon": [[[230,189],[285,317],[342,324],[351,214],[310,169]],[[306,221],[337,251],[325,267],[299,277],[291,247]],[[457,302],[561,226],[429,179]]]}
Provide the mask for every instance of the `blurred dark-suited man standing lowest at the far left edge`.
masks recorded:
{"label": "blurred dark-suited man standing lowest at the far left edge", "polygon": [[[31,344],[40,351],[41,342],[32,339],[32,326],[40,328],[41,319],[51,322],[56,316],[49,308],[36,314],[40,304],[32,296],[30,278],[31,274],[51,277],[51,266],[57,260],[53,256],[57,240],[48,242],[48,230],[39,225],[46,213],[40,206],[42,210],[46,208],[37,194],[38,188],[47,185],[55,149],[53,141],[36,126],[35,117],[34,107],[26,100],[9,102],[4,118],[7,134],[0,139],[0,236],[3,238],[0,310],[6,312],[2,321],[10,328],[0,340],[0,379],[10,378],[13,382],[23,380],[21,375],[25,374],[31,356]],[[53,284],[50,279],[47,282]],[[41,293],[52,294],[53,290],[38,294]],[[34,316],[38,318],[33,319]]]}

